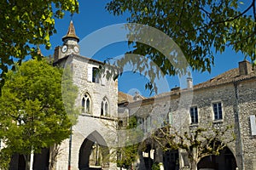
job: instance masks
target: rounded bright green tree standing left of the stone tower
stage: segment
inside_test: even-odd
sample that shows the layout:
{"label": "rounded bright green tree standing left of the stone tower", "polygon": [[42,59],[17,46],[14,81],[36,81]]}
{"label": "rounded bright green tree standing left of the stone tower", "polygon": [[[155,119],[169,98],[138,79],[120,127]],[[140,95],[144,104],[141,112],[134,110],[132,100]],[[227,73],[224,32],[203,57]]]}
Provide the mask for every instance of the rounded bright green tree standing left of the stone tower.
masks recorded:
{"label": "rounded bright green tree standing left of the stone tower", "polygon": [[[24,155],[29,165],[32,152],[60,144],[71,134],[78,89],[67,73],[61,81],[62,70],[44,59],[26,61],[6,77],[0,98],[0,139],[6,145],[1,155]],[[69,102],[64,105],[65,96]]]}

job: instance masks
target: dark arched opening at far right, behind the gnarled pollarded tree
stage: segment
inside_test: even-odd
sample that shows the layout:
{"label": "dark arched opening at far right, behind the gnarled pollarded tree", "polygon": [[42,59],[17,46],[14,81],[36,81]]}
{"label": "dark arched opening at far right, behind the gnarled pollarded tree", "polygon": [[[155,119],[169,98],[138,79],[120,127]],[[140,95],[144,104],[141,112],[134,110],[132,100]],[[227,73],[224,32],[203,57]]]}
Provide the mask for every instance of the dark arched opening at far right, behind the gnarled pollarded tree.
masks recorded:
{"label": "dark arched opening at far right, behind the gnarled pollarded tree", "polygon": [[228,147],[220,150],[219,156],[206,156],[199,161],[197,168],[212,170],[236,170],[236,158]]}

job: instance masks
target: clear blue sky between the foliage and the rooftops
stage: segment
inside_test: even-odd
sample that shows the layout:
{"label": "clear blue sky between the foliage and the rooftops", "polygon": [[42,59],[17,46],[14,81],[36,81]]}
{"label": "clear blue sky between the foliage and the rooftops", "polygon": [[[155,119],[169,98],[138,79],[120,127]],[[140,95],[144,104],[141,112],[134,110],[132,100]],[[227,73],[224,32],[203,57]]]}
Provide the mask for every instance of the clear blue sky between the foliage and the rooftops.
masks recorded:
{"label": "clear blue sky between the foliage and the rooftops", "polygon": [[[105,0],[79,1],[80,12],[79,14],[73,15],[73,24],[75,26],[76,34],[80,40],[105,26],[126,22],[127,15],[117,17],[106,11],[105,5],[107,2],[108,1]],[[62,44],[61,37],[66,35],[70,20],[70,14],[66,14],[62,20],[55,20],[57,33],[50,38],[50,42],[52,44],[51,49],[45,50],[44,48],[41,48],[44,55],[54,54],[54,48]],[[101,38],[98,38],[98,41],[101,42]],[[126,50],[126,42],[117,42],[109,45],[108,47],[102,48],[95,54],[95,56],[93,56],[93,58],[103,60],[106,59],[106,57],[116,57],[125,54]],[[224,71],[236,68],[238,66],[238,62],[243,58],[244,56],[241,53],[236,54],[230,48],[227,48],[224,54],[215,54],[215,65],[212,66],[211,74],[208,72],[193,72],[192,78],[194,84],[207,81]],[[169,91],[171,88],[176,86],[181,86],[177,77],[166,77],[166,79],[168,82],[168,88],[165,88],[165,91]],[[138,74],[131,74],[131,72],[127,71],[119,78],[119,90],[127,94],[134,94],[135,91],[138,91],[144,96],[148,96],[149,91],[144,89],[144,83],[146,80],[147,79],[145,77],[140,77]]]}

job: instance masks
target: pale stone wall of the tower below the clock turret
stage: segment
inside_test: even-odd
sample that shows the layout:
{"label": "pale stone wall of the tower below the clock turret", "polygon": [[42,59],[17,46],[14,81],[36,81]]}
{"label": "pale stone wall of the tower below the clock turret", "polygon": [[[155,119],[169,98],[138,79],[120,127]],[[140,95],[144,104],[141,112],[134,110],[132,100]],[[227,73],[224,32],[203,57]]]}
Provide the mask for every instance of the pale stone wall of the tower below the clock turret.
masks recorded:
{"label": "pale stone wall of the tower below the clock turret", "polygon": [[[66,63],[65,63],[66,62]],[[73,82],[79,88],[79,95],[76,99],[76,106],[81,111],[81,103],[84,94],[90,95],[90,113],[81,111],[78,122],[73,126],[71,143],[71,169],[79,169],[79,151],[84,143],[84,139],[90,136],[90,140],[107,146],[112,146],[116,142],[116,119],[118,101],[118,82],[106,77],[99,78],[98,82],[88,80],[88,69],[99,68],[101,62],[93,59],[86,59],[78,55],[71,55],[63,60],[59,65],[68,65],[73,71]],[[102,99],[108,99],[108,116],[101,115]],[[69,154],[69,139],[61,144],[65,154],[59,156],[57,169],[67,169]],[[90,152],[90,149],[87,150]],[[66,167],[64,168],[63,165]],[[111,164],[114,168],[113,164]]]}

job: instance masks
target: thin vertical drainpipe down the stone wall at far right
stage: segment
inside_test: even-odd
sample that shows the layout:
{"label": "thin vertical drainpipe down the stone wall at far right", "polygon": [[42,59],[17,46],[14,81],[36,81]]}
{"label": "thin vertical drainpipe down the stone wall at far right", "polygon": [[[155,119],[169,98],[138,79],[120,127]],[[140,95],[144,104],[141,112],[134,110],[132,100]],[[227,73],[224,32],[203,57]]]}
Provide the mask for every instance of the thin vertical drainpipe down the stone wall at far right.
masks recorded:
{"label": "thin vertical drainpipe down the stone wall at far right", "polygon": [[238,89],[237,89],[238,82],[234,82],[235,87],[235,96],[236,96],[236,120],[237,120],[237,127],[238,127],[238,139],[240,140],[240,154],[241,154],[241,170],[244,170],[244,158],[243,158],[243,151],[242,151],[242,139],[241,139],[241,128],[240,128],[240,116],[239,116],[239,96],[238,96]]}

